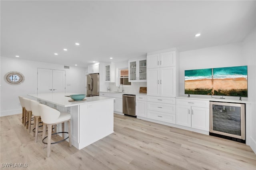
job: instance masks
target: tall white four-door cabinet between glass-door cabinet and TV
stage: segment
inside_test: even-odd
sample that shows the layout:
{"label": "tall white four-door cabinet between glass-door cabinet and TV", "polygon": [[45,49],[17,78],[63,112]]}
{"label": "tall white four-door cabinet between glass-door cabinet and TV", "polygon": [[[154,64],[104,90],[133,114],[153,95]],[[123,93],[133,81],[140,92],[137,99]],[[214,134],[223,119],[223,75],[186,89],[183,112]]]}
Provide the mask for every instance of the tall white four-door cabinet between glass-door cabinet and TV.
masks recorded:
{"label": "tall white four-door cabinet between glass-door cabinet and TV", "polygon": [[176,76],[176,54],[176,49],[148,53],[147,95],[176,97],[179,82]]}

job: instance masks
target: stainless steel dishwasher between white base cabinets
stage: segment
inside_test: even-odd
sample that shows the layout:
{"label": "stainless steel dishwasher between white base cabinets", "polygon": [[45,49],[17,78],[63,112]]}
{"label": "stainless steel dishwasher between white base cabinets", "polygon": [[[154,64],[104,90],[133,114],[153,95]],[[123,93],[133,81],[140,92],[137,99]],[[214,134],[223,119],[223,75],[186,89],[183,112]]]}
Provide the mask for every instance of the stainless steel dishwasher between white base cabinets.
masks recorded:
{"label": "stainless steel dishwasher between white base cabinets", "polygon": [[135,95],[123,95],[124,115],[136,116],[135,114]]}

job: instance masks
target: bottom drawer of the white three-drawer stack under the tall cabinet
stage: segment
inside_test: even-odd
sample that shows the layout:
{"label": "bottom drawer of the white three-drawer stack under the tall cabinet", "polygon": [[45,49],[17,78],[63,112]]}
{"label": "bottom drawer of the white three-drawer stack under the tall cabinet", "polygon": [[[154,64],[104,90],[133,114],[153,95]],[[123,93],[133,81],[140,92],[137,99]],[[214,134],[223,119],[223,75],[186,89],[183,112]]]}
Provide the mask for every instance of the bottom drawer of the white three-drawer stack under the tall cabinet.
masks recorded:
{"label": "bottom drawer of the white three-drawer stack under the tall cabinet", "polygon": [[176,123],[176,115],[170,113],[156,112],[148,110],[148,118],[154,119],[157,121],[167,122],[167,123]]}

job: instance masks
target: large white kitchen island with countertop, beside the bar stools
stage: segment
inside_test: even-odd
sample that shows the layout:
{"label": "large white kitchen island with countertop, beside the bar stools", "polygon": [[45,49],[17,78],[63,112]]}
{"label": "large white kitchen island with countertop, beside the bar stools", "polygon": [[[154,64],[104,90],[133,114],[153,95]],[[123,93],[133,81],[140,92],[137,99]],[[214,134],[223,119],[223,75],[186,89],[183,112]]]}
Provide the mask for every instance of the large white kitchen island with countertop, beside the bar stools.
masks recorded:
{"label": "large white kitchen island with countertop, beside the bar stools", "polygon": [[[30,94],[40,103],[71,114],[72,145],[82,149],[114,132],[114,99],[109,97],[86,97],[84,101],[70,102],[74,93]],[[58,132],[61,131],[57,127]],[[67,126],[65,125],[65,131]]]}

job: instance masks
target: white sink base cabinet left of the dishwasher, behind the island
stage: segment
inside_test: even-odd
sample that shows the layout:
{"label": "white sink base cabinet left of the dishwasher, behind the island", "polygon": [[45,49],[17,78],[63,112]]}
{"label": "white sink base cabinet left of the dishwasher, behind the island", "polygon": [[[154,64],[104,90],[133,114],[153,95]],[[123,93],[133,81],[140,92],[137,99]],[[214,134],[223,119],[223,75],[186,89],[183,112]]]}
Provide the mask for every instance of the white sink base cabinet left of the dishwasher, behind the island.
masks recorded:
{"label": "white sink base cabinet left of the dishwasher, behind the island", "polygon": [[122,94],[100,92],[100,96],[115,98],[114,113],[118,113],[118,114],[123,113],[123,95]]}

